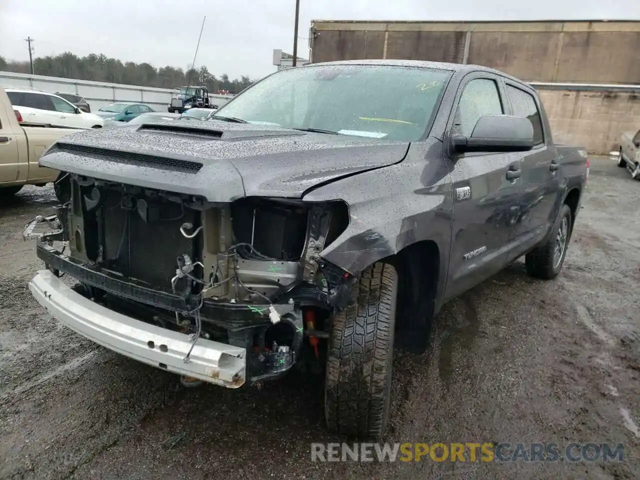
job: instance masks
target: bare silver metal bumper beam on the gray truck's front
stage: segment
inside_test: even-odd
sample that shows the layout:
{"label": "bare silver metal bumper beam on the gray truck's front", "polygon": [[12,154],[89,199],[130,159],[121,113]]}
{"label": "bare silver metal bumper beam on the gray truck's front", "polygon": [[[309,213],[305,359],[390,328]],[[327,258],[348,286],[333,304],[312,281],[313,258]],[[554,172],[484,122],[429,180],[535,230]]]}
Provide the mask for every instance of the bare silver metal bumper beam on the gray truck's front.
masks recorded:
{"label": "bare silver metal bumper beam on the gray truck's front", "polygon": [[246,350],[198,339],[184,362],[189,335],[166,330],[109,310],[73,291],[51,271],[38,271],[29,290],[62,324],[110,350],[148,365],[228,388],[246,378]]}

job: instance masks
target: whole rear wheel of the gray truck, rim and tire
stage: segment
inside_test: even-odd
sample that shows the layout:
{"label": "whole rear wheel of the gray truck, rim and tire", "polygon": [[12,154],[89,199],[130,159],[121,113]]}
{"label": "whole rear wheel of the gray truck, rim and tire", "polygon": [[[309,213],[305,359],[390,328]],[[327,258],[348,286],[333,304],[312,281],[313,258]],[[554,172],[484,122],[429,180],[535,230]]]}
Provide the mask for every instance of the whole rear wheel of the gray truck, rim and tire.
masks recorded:
{"label": "whole rear wheel of the gray truck, rim and tire", "polygon": [[545,280],[556,278],[562,270],[571,234],[571,209],[564,204],[560,209],[556,223],[551,228],[547,242],[525,255],[527,273],[535,278],[544,278]]}

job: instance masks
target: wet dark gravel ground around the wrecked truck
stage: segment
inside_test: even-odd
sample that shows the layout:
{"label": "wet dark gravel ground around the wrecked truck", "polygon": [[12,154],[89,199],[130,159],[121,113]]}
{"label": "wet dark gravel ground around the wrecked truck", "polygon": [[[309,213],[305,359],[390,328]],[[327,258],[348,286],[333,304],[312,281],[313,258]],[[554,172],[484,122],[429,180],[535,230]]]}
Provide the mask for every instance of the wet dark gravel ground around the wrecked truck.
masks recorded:
{"label": "wet dark gravel ground around the wrecked truck", "polygon": [[54,205],[25,188],[0,205],[2,479],[637,479],[640,182],[592,159],[563,273],[519,260],[447,304],[433,347],[399,352],[387,442],[612,442],[623,462],[320,463],[323,390],[182,387],[60,326],[31,298],[42,264],[22,226]]}

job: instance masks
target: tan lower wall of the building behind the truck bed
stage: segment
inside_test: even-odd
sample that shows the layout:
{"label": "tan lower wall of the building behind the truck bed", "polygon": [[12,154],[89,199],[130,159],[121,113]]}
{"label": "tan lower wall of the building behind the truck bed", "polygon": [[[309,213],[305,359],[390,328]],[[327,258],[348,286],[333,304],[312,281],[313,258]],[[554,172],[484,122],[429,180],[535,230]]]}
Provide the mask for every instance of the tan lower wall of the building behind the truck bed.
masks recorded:
{"label": "tan lower wall of the building behind the truck bed", "polygon": [[623,132],[640,129],[640,96],[632,93],[538,90],[556,143],[606,155]]}

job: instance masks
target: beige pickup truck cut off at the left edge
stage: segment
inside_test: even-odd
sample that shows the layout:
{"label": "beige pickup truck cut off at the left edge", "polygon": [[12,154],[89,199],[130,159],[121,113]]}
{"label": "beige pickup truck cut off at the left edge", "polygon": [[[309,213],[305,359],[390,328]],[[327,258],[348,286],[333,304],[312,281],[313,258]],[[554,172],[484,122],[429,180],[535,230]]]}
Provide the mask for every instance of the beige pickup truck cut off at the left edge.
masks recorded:
{"label": "beige pickup truck cut off at the left edge", "polygon": [[[13,106],[0,87],[0,203],[25,185],[44,186],[56,182],[61,173],[38,164],[44,151],[62,136],[76,129],[19,124]],[[63,183],[63,182],[61,182]],[[58,200],[65,201],[66,188],[56,188]]]}

